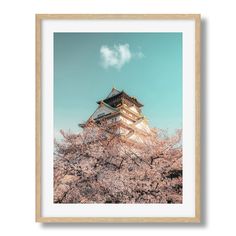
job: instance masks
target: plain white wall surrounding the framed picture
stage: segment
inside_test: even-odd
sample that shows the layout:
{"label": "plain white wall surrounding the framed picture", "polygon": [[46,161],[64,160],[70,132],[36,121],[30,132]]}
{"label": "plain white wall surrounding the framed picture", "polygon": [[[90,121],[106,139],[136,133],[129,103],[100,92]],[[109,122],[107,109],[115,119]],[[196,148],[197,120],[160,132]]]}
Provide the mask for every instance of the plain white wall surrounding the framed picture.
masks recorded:
{"label": "plain white wall surrounding the framed picture", "polygon": [[[1,235],[234,235],[236,14],[233,0],[7,0],[0,3]],[[203,223],[42,225],[35,210],[35,13],[201,13]]]}

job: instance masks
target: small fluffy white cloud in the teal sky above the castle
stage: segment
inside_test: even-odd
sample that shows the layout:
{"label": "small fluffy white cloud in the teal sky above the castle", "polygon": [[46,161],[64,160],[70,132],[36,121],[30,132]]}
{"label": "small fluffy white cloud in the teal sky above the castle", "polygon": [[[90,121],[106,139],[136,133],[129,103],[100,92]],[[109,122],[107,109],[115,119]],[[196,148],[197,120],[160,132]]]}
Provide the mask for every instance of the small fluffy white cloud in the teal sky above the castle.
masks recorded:
{"label": "small fluffy white cloud in the teal sky above the castle", "polygon": [[114,67],[121,69],[132,58],[141,59],[144,57],[142,52],[132,53],[129,44],[119,44],[113,47],[103,45],[100,48],[101,64],[104,68]]}

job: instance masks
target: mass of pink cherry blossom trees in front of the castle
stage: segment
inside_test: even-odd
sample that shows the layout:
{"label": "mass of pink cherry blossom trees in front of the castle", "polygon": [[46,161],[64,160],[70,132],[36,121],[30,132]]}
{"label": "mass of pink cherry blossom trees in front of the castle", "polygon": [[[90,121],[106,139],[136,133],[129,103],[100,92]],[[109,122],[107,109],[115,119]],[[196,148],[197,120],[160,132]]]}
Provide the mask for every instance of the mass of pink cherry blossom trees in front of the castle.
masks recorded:
{"label": "mass of pink cherry blossom trees in front of the castle", "polygon": [[54,203],[182,203],[181,130],[135,142],[119,123],[90,121],[55,141]]}

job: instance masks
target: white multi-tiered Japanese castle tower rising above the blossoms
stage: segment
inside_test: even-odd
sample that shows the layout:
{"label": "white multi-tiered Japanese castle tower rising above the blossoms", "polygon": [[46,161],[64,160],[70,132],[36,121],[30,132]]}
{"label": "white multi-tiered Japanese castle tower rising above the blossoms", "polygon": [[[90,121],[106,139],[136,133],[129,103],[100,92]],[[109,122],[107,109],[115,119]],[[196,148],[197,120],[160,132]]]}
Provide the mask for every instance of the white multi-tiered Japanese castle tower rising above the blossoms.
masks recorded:
{"label": "white multi-tiered Japanese castle tower rising above the blossoms", "polygon": [[[138,142],[151,132],[147,119],[141,113],[143,105],[124,91],[112,88],[108,96],[97,104],[98,108],[88,121],[106,120],[108,124],[118,124],[117,132],[121,136]],[[80,124],[80,127],[84,128],[86,123]]]}

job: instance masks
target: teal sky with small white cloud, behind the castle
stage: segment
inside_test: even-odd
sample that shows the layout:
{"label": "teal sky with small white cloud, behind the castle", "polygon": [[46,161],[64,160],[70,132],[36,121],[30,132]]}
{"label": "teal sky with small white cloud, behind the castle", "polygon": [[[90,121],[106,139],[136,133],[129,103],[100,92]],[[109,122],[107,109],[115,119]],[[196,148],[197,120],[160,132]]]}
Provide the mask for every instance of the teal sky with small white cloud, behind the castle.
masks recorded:
{"label": "teal sky with small white cloud, behind the castle", "polygon": [[135,96],[151,127],[182,127],[181,33],[54,33],[54,133],[79,123],[112,87]]}

